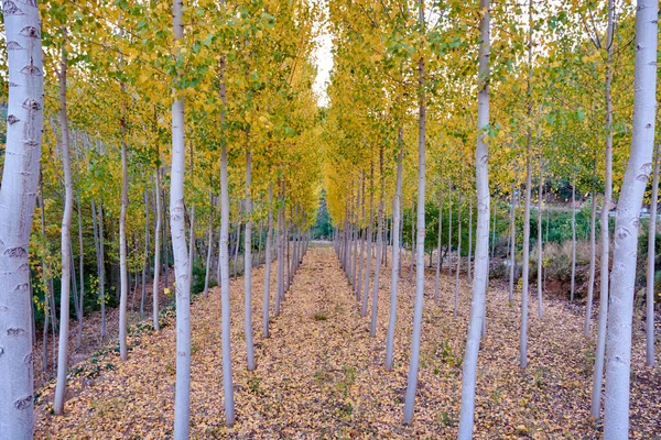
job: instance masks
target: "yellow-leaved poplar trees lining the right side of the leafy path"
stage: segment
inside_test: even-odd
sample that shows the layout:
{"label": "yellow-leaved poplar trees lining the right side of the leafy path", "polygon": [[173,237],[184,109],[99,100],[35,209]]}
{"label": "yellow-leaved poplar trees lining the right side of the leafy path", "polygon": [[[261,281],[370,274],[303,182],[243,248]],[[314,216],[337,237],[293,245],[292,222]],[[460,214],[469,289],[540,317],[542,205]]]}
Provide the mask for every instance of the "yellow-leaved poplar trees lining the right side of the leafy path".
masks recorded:
{"label": "yellow-leaved poplar trees lining the right side of the leafy path", "polygon": [[[362,305],[367,304],[368,293],[361,294],[361,277],[356,276],[356,267],[357,274],[361,273],[362,249],[370,255],[372,241],[376,241],[379,261],[383,226],[390,224],[390,231],[394,231],[391,331],[397,310],[401,207],[409,204],[416,210],[416,224],[413,227],[411,222],[412,233],[407,233],[411,238],[415,234],[410,242],[416,266],[416,295],[404,422],[412,420],[418,375],[424,249],[425,237],[429,237],[429,232],[425,234],[425,200],[458,194],[473,200],[477,208],[473,304],[459,424],[459,438],[469,438],[478,348],[480,336],[486,331],[491,195],[502,202],[511,200],[510,267],[513,271],[520,233],[514,228],[513,200],[518,188],[523,186],[519,363],[525,369],[532,197],[537,193],[537,235],[542,237],[545,182],[564,179],[571,182],[572,187],[574,262],[576,193],[592,195],[590,306],[597,261],[595,213],[600,211],[602,267],[593,416],[600,416],[606,365],[606,437],[627,437],[629,382],[625,376],[630,369],[636,272],[636,258],[631,256],[636,255],[638,245],[638,217],[643,195],[650,188],[654,204],[658,184],[654,177],[654,185],[649,185],[653,168],[657,56],[653,19],[657,6],[652,3],[639,2],[636,9],[628,6],[616,9],[613,1],[560,4],[529,1],[492,6],[481,1],[472,7],[452,1],[442,4],[395,1],[361,2],[358,8],[348,2],[330,6],[336,65],[326,123],[328,207],[337,228],[340,262],[349,280],[357,283],[356,293],[362,295]],[[479,61],[477,73],[476,59]],[[477,109],[467,101],[467,97],[475,94]],[[632,124],[631,107],[636,109]],[[469,129],[476,124],[477,134]],[[475,136],[477,147],[474,150],[470,140]],[[624,173],[627,157],[627,173]],[[475,176],[467,173],[472,167],[475,167]],[[432,176],[431,179],[425,179],[426,175]],[[610,238],[608,218],[616,207],[614,188],[619,202],[615,237]],[[413,197],[407,199],[407,196]],[[386,200],[392,200],[391,208]],[[653,274],[653,222],[650,228],[649,271]],[[469,241],[473,241],[473,226],[469,231]],[[460,232],[457,239],[459,237]],[[611,271],[609,244],[613,241],[616,252]],[[441,239],[436,243],[441,243]],[[462,246],[452,238],[447,243]],[[468,243],[468,249],[470,262],[474,243]],[[542,317],[543,248],[538,245],[537,249],[538,315]],[[438,252],[437,271],[441,263]],[[370,271],[368,257],[366,274]],[[575,264],[573,266],[575,273]],[[376,271],[375,285],[378,285],[378,276]],[[513,280],[511,273],[510,292],[513,292]],[[648,276],[648,363],[652,365],[653,276]],[[572,299],[574,292],[572,283]],[[375,304],[377,295],[375,289]],[[610,304],[618,302],[610,310],[609,295]],[[590,334],[590,306],[586,315],[587,336]],[[389,331],[389,349],[391,339]],[[388,353],[387,370],[391,351]]]}

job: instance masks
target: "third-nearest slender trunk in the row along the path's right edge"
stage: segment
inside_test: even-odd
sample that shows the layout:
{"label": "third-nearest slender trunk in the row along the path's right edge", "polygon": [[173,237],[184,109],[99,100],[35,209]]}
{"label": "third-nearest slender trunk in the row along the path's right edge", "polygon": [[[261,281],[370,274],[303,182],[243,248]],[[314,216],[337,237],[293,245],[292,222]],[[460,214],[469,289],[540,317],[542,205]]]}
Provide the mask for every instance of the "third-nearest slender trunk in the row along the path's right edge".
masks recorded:
{"label": "third-nearest slender trunk in the row along the path's right edge", "polygon": [[388,340],[386,342],[386,371],[392,371],[392,354],[394,351],[394,327],[397,323],[397,290],[400,274],[400,210],[402,201],[402,179],[404,160],[404,131],[398,130],[397,143],[399,147],[397,158],[397,180],[394,197],[392,199],[392,270],[390,272],[390,318],[388,320]]}

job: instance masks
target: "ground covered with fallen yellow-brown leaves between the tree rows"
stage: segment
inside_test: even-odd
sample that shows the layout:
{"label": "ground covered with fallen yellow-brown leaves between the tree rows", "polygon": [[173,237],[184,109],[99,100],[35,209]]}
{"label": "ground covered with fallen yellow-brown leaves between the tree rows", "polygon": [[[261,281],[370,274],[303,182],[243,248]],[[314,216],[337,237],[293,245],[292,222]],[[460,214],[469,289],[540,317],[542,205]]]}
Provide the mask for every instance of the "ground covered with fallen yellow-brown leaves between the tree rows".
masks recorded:
{"label": "ground covered with fallen yellow-brown leaves between the tree rows", "polygon": [[[246,370],[243,280],[231,290],[231,339],[237,422],[224,426],[220,300],[214,288],[192,306],[191,437],[201,438],[454,438],[460,406],[463,351],[470,287],[460,279],[460,307],[453,316],[455,278],[434,273],[425,283],[419,388],[412,426],[402,408],[409,371],[413,286],[402,274],[394,367],[383,369],[390,268],[381,271],[377,337],[361,318],[329,246],[311,246],[293,279],[271,337],[262,338],[263,267],[253,271],[253,372]],[[274,274],[273,274],[274,275]],[[274,278],[271,286],[275,286]],[[271,298],[273,296],[271,295]],[[487,296],[487,336],[479,355],[476,438],[599,438],[589,417],[595,330],[583,337],[584,309],[545,299],[544,317],[530,301],[529,365],[521,370],[520,301],[508,301],[494,284]],[[273,301],[271,301],[273,302]],[[371,298],[370,298],[371,304]],[[661,435],[661,369],[644,366],[644,339],[635,326],[631,438]],[[54,382],[37,391],[37,438],[171,438],[175,382],[174,319],[159,332],[129,339],[129,360],[106,350],[71,367],[66,414],[52,415]],[[659,352],[659,350],[657,351]]]}

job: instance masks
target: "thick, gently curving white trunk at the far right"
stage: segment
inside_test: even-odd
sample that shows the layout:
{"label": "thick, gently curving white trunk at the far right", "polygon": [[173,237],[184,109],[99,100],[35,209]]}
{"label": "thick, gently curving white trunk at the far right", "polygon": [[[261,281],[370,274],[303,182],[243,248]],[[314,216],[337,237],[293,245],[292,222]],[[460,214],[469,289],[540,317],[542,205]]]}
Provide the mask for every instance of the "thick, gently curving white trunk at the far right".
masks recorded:
{"label": "thick, gently curving white trunk at the far right", "polygon": [[629,437],[631,320],[636,287],[636,254],[642,196],[652,169],[657,113],[657,0],[638,0],[636,11],[636,78],[631,154],[615,219],[610,309],[608,310],[604,439]]}

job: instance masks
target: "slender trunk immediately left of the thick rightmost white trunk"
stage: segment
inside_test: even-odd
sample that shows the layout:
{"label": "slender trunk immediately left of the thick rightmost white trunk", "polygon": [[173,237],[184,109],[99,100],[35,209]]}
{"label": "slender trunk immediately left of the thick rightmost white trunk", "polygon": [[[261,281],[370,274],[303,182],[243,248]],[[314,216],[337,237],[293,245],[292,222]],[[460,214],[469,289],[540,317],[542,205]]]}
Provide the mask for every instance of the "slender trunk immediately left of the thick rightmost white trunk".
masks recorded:
{"label": "slender trunk immediately left of the thick rightmost white trunk", "polygon": [[[602,229],[602,255],[599,267],[599,322],[597,329],[597,345],[595,348],[595,369],[593,373],[593,391],[590,415],[599,418],[602,409],[602,384],[604,381],[604,358],[606,355],[606,323],[608,318],[608,283],[609,283],[609,246],[610,230],[608,227],[608,213],[614,208],[613,202],[613,98],[610,86],[613,82],[613,42],[615,33],[615,1],[608,0],[608,29],[606,43],[608,45],[608,58],[606,61],[606,173],[604,177],[604,204],[599,218]],[[621,199],[621,196],[620,196]]]}

